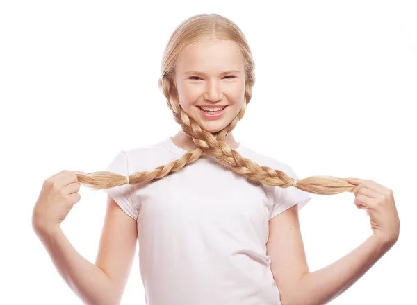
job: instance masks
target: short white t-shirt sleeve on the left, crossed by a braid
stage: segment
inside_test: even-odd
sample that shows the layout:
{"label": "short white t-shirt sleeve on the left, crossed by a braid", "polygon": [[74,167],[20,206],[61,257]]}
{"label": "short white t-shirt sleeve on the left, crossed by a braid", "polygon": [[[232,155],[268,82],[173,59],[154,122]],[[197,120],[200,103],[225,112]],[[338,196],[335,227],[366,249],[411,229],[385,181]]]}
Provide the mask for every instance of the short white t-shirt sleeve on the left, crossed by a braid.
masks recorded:
{"label": "short white t-shirt sleeve on the left, crossed by a braid", "polygon": [[[110,164],[106,167],[105,171],[117,173],[119,175],[129,175],[129,166],[126,152],[121,150],[113,158]],[[113,200],[119,205],[119,207],[131,218],[138,220],[138,210],[136,204],[133,203],[131,196],[131,185],[124,184],[121,186],[115,186],[111,189],[103,189],[104,193],[110,195]]]}

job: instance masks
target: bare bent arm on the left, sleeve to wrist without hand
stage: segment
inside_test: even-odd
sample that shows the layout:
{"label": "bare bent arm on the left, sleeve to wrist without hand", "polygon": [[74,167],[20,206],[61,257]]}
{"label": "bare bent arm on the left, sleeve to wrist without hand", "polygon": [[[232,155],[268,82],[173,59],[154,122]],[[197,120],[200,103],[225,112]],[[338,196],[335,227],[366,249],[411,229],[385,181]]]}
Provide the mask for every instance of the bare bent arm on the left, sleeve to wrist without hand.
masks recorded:
{"label": "bare bent arm on the left, sleeve to wrist without hand", "polygon": [[35,233],[68,286],[84,304],[119,304],[136,250],[136,222],[108,197],[96,264],[77,252],[60,227]]}

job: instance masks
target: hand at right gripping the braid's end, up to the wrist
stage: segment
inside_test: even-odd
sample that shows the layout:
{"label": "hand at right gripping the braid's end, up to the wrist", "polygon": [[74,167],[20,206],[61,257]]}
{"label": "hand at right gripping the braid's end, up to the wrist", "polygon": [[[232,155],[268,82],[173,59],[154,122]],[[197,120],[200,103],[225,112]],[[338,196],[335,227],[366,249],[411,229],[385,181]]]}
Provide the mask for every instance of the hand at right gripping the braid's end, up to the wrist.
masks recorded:
{"label": "hand at right gripping the braid's end, up to the wrist", "polygon": [[352,191],[354,204],[358,209],[366,209],[374,234],[386,243],[395,243],[400,234],[400,219],[393,191],[372,180],[349,178],[347,182],[357,185]]}

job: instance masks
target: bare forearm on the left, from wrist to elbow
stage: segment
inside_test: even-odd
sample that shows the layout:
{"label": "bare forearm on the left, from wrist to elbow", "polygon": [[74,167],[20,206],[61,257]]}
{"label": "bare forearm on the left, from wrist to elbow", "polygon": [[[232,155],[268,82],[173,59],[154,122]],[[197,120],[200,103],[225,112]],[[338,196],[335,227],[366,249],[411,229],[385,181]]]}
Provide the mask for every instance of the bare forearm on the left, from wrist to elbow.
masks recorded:
{"label": "bare forearm on the left, from wrist to elbow", "polygon": [[84,304],[118,304],[106,273],[81,256],[62,229],[57,227],[49,232],[35,229],[35,233],[47,249],[61,277]]}

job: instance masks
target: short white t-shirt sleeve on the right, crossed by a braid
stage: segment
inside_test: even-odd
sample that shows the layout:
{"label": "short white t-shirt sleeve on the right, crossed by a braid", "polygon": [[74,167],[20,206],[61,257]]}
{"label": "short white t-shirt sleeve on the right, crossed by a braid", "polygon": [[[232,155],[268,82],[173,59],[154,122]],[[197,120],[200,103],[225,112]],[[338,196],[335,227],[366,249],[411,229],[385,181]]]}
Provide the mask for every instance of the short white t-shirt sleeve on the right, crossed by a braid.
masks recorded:
{"label": "short white t-shirt sleeve on the right, crossed by a braid", "polygon": [[[287,166],[285,173],[294,179],[298,179],[297,174],[295,174],[291,166]],[[295,204],[298,204],[298,210],[300,211],[300,209],[311,200],[310,193],[297,189],[294,186],[289,186],[287,188],[281,188],[279,186],[274,187],[274,205],[269,220],[293,207]]]}

